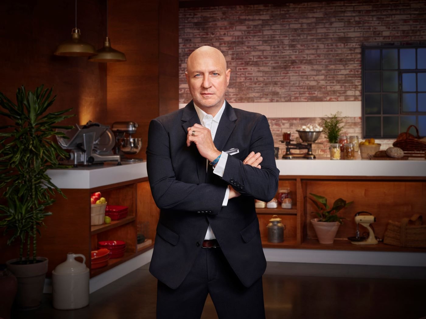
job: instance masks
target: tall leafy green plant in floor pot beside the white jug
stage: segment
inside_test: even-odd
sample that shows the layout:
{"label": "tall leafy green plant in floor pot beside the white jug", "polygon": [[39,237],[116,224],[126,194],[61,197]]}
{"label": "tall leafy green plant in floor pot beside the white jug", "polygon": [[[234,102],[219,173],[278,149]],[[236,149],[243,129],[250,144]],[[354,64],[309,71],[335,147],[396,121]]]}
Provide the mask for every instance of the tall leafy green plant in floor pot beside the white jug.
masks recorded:
{"label": "tall leafy green plant in floor pot beside the white jug", "polygon": [[[7,199],[6,205],[0,205],[0,229],[10,236],[8,245],[15,239],[20,241],[19,258],[6,265],[18,279],[15,302],[26,309],[37,308],[43,293],[48,260],[37,256],[37,234],[41,235],[40,228],[45,226],[43,219],[52,214],[46,208],[55,202],[55,190],[65,197],[46,171],[68,167],[58,162],[58,158],[67,156],[66,151],[51,139],[65,137],[56,128],[72,126],[56,123],[73,115],[64,115],[71,108],[47,113],[56,98],[51,96],[52,88],[43,90],[41,85],[33,93],[22,86],[17,89],[14,104],[0,92],[0,106],[4,109],[0,116],[10,123],[0,127],[0,189],[1,196]],[[39,287],[23,283],[28,280]]]}

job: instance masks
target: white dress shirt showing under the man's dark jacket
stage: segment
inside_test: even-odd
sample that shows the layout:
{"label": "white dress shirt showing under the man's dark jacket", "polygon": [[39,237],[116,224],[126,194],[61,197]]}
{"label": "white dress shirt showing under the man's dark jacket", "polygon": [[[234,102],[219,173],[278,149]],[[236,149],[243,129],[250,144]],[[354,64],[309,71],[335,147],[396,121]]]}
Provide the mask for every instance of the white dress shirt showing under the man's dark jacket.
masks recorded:
{"label": "white dress shirt showing under the man's dark jacket", "polygon": [[[216,136],[216,131],[217,131],[217,127],[219,126],[220,118],[222,117],[223,111],[225,110],[225,103],[226,102],[224,101],[222,108],[220,108],[219,112],[217,112],[217,114],[214,117],[210,114],[207,114],[203,110],[201,110],[201,108],[199,108],[194,103],[194,107],[200,119],[200,123],[202,126],[210,130],[212,134],[212,140],[214,140],[214,137]],[[228,154],[225,152],[222,152],[219,162],[214,167],[214,170],[213,170],[214,174],[219,175],[220,177],[223,177],[227,159],[228,159]],[[206,159],[206,171],[207,171],[208,165],[209,165],[209,160]],[[229,185],[226,188],[225,197],[223,199],[222,206],[226,206],[228,204],[228,197],[229,197]],[[209,228],[207,228],[207,233],[206,233],[206,236],[204,237],[204,240],[208,240],[208,239],[216,239],[210,225],[209,225]]]}

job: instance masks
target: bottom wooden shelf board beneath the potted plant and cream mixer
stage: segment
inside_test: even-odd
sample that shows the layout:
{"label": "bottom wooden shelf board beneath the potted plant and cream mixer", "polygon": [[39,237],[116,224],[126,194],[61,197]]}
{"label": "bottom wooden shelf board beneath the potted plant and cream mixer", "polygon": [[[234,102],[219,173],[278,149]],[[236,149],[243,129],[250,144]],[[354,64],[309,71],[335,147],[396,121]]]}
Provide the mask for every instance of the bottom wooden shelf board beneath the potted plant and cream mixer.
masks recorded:
{"label": "bottom wooden shelf board beneath the potted plant and cream mixer", "polygon": [[320,244],[318,239],[306,239],[297,248],[300,249],[325,249],[325,250],[347,250],[347,251],[404,251],[424,253],[426,248],[410,248],[386,245],[379,242],[377,245],[354,245],[348,239],[334,239],[332,244]]}

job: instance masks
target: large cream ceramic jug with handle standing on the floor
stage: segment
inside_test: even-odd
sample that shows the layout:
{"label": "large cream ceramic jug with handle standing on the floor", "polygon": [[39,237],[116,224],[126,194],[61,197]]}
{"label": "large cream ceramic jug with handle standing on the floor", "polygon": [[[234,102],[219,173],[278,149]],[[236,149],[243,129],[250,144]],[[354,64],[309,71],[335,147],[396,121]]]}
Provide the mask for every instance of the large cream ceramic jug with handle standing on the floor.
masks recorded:
{"label": "large cream ceramic jug with handle standing on the floor", "polygon": [[[82,257],[78,262],[75,257]],[[89,268],[86,257],[80,253],[68,253],[66,261],[52,271],[53,307],[78,309],[89,305]]]}

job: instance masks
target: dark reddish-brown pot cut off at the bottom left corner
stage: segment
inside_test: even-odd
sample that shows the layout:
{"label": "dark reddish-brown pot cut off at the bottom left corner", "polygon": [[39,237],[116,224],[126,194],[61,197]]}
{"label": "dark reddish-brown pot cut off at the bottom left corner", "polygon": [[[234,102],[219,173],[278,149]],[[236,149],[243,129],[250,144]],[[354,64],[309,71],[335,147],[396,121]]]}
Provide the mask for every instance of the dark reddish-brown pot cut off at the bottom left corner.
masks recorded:
{"label": "dark reddish-brown pot cut off at the bottom left corner", "polygon": [[0,265],[0,318],[10,319],[17,288],[16,277],[6,269],[6,265]]}

